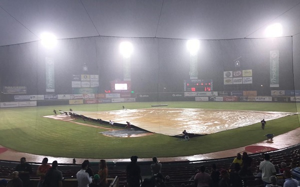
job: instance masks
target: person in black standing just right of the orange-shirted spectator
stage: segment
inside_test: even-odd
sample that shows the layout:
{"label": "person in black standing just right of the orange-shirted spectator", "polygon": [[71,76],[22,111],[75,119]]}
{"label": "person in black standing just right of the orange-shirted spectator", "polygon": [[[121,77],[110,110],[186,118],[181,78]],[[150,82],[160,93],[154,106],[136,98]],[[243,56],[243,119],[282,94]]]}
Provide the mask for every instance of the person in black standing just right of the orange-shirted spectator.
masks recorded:
{"label": "person in black standing just right of the orange-shirted spectator", "polygon": [[57,170],[57,166],[57,161],[53,161],[52,167],[45,175],[45,179],[43,182],[44,187],[62,187],[62,173]]}

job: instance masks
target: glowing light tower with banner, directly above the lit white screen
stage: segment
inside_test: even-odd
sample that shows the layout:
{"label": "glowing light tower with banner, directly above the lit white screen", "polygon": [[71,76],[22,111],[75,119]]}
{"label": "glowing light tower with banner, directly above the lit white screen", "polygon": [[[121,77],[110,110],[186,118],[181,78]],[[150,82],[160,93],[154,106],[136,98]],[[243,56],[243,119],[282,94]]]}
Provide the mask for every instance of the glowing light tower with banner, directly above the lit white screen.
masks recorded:
{"label": "glowing light tower with banner, directly above the lit white screen", "polygon": [[130,81],[130,57],[133,52],[133,46],[128,41],[120,43],[120,52],[123,55],[123,80]]}

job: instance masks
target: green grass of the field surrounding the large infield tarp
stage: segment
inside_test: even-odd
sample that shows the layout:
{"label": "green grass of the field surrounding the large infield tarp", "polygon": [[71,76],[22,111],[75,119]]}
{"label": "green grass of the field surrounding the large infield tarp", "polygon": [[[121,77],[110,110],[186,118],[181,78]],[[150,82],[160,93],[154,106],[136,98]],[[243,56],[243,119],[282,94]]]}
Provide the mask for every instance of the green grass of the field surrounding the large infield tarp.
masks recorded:
{"label": "green grass of the field surrounding the large infield tarp", "polygon": [[[0,109],[0,144],[6,148],[54,157],[118,159],[137,155],[139,158],[176,157],[203,154],[238,148],[265,140],[265,134],[275,136],[299,128],[299,115],[267,121],[265,130],[260,124],[222,131],[180,141],[178,138],[153,134],[135,138],[106,137],[106,131],[61,120],[44,118],[55,110],[110,111],[149,108],[154,104],[168,104],[169,108],[203,108],[227,110],[255,110],[297,112],[295,103],[246,102],[145,102],[66,105]],[[78,120],[83,123],[82,120]],[[87,122],[88,123],[88,122]],[[94,124],[96,125],[96,124]]]}

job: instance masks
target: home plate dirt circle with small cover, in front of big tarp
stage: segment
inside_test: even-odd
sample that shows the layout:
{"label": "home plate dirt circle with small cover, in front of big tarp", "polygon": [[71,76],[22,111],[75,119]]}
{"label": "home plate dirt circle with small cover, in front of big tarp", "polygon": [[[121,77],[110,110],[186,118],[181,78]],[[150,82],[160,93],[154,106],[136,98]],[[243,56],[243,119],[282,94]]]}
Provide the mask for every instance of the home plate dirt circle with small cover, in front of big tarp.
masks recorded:
{"label": "home plate dirt circle with small cover, in front of big tarp", "polygon": [[105,136],[111,136],[111,137],[140,137],[140,136],[148,136],[153,133],[149,133],[142,130],[135,130],[135,129],[125,129],[125,130],[112,130],[112,131],[105,131],[105,132],[99,132]]}

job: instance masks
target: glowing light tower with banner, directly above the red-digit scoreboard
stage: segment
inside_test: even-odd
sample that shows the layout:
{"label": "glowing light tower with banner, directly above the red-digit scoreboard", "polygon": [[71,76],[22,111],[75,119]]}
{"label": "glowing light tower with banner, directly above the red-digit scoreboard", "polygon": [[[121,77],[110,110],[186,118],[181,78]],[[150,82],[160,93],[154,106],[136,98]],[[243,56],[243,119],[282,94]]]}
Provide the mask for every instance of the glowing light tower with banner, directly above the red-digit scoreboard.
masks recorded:
{"label": "glowing light tower with banner, directly above the red-digit scoreboard", "polygon": [[187,40],[186,42],[187,49],[189,51],[189,78],[198,79],[198,50],[200,48],[199,40]]}

